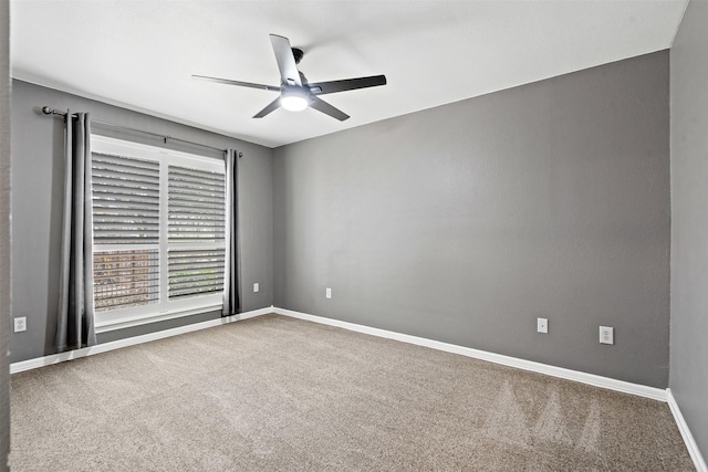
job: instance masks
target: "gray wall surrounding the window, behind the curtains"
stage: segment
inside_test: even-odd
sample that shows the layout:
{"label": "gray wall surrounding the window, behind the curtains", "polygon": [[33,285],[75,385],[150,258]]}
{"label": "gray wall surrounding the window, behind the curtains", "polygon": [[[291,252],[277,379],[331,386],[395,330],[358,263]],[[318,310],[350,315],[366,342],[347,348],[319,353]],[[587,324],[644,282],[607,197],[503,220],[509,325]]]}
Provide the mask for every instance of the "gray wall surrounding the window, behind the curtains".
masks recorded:
{"label": "gray wall surrounding the window, behind the curtains", "polygon": [[[239,159],[242,308],[272,305],[272,150],[201,129],[106,105],[21,81],[12,91],[13,316],[28,331],[12,335],[12,361],[53,354],[61,232],[63,129],[60,118],[34,107],[90,112],[94,119],[243,153]],[[135,136],[135,138],[138,138]],[[196,149],[191,149],[196,151]],[[252,292],[260,282],[261,291]],[[112,332],[98,342],[218,317],[219,313]]]}

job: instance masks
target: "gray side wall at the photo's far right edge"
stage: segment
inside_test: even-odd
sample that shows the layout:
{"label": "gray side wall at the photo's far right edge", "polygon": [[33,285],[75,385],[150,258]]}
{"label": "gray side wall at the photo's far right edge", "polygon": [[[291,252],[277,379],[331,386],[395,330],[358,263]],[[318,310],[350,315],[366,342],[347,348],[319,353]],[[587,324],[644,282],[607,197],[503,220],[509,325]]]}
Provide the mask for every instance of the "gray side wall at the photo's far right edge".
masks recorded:
{"label": "gray side wall at the photo's far right edge", "polygon": [[708,2],[671,48],[670,388],[708,459]]}

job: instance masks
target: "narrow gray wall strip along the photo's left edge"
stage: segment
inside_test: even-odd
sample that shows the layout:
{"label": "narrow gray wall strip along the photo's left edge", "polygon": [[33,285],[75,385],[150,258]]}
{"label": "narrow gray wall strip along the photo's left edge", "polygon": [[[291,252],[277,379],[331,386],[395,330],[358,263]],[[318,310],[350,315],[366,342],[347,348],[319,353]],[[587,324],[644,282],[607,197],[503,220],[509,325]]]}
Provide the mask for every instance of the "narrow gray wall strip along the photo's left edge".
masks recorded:
{"label": "narrow gray wall strip along the photo's left edge", "polygon": [[10,2],[0,2],[0,472],[10,453]]}

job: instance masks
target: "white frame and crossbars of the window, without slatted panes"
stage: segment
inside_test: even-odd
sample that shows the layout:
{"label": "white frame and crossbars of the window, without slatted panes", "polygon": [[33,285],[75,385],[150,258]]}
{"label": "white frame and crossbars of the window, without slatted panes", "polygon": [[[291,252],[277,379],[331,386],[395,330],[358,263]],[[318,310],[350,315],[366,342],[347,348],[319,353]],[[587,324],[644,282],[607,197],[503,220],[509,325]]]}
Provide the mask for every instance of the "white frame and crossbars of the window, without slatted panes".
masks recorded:
{"label": "white frame and crossbars of the window, without slatted panes", "polygon": [[[117,156],[134,157],[156,161],[159,165],[159,238],[157,244],[101,244],[93,240],[93,254],[104,251],[158,249],[159,251],[159,297],[157,303],[148,303],[140,306],[131,306],[95,313],[96,333],[104,333],[125,327],[156,323],[183,316],[220,311],[223,307],[223,294],[226,286],[220,291],[208,295],[170,300],[168,294],[169,272],[168,252],[178,249],[223,249],[228,252],[229,234],[223,240],[216,242],[170,242],[168,237],[168,191],[169,166],[198,168],[218,172],[225,176],[225,196],[227,193],[226,164],[223,159],[199,156],[173,149],[167,149],[146,144],[117,139],[113,137],[92,134],[91,151],[97,154],[113,154]],[[92,176],[93,177],[93,176]],[[93,189],[92,189],[93,190]],[[93,210],[93,204],[92,204]],[[225,222],[230,225],[232,216],[229,214],[228,203],[225,204]],[[228,260],[225,260],[225,281],[228,280]],[[95,302],[94,302],[95,303]]]}

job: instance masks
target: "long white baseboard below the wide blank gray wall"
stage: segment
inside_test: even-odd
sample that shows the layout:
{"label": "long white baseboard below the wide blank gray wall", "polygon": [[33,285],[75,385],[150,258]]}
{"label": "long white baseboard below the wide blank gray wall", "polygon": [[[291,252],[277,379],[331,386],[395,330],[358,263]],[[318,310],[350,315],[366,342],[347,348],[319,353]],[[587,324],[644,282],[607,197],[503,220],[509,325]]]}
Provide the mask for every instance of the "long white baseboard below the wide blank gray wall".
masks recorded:
{"label": "long white baseboard below the wide blank gray wall", "polygon": [[339,319],[325,318],[322,316],[310,315],[306,313],[293,312],[284,308],[273,308],[279,315],[290,316],[293,318],[305,319],[309,322],[321,323],[324,325],[336,326],[358,333],[365,333],[373,336],[396,339],[404,343],[425,346],[433,349],[445,350],[446,353],[459,354],[461,356],[472,357],[480,360],[501,364],[504,366],[517,367],[519,369],[531,370],[548,376],[559,377],[568,380],[580,381],[583,384],[602,387],[610,390],[632,394],[639,397],[652,398],[654,400],[666,401],[666,390],[645,385],[632,384],[624,380],[617,380],[610,377],[586,374],[579,370],[565,369],[562,367],[549,366],[546,364],[534,363],[531,360],[520,359],[518,357],[504,356],[501,354],[488,353],[486,350],[472,349],[471,347],[458,346],[455,344],[441,343],[439,340],[427,339],[424,337],[410,336],[407,334],[391,332],[386,329],[373,328],[369,326],[357,325],[354,323],[341,322]]}

